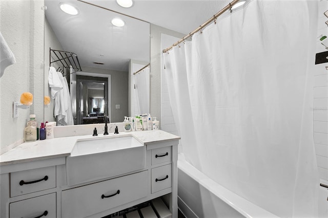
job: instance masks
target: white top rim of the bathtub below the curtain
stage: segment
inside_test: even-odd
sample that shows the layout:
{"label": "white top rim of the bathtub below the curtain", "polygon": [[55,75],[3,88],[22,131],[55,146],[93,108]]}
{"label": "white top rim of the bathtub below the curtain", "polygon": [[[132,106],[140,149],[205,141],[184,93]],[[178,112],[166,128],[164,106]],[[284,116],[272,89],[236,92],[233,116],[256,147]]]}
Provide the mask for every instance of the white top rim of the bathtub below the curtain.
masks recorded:
{"label": "white top rim of the bathtub below the curtain", "polygon": [[[236,211],[241,213],[245,217],[278,217],[275,214],[264,210],[263,208],[251,203],[250,201],[243,199],[234,192],[220,186],[212,179],[204,175],[194,166],[189,164],[183,154],[178,155],[178,168],[187,173],[192,179],[201,184],[204,188],[207,188],[212,193],[217,195],[222,201],[226,202]],[[193,173],[190,173],[192,171]]]}

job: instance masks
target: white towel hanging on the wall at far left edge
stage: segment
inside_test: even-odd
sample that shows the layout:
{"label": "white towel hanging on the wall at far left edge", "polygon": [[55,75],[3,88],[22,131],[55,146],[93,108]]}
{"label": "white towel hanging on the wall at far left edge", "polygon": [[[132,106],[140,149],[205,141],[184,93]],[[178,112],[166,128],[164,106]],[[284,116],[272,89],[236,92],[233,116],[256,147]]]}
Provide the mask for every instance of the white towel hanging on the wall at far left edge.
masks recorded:
{"label": "white towel hanging on the wall at far left edge", "polygon": [[0,32],[0,78],[5,73],[5,69],[13,63],[16,63],[15,56]]}

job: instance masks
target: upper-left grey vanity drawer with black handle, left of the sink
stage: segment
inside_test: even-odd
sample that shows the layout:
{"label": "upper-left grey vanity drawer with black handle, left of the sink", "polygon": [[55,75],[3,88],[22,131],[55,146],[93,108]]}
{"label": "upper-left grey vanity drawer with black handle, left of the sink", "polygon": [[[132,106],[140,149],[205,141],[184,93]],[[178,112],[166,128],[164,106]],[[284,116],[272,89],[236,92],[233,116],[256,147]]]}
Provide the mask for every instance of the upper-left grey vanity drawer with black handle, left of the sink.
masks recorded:
{"label": "upper-left grey vanity drawer with black handle, left of the sink", "polygon": [[56,187],[56,166],[10,173],[10,197]]}

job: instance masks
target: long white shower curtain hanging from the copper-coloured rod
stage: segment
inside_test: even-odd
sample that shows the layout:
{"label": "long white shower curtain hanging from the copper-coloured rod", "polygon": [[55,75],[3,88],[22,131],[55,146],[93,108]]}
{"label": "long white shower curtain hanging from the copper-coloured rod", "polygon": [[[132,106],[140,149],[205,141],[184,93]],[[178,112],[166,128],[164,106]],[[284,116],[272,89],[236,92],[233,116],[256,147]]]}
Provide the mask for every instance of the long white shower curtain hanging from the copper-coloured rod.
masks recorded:
{"label": "long white shower curtain hanging from the copper-coloured rod", "polygon": [[317,215],[317,1],[250,1],[165,55],[188,161],[281,217]]}

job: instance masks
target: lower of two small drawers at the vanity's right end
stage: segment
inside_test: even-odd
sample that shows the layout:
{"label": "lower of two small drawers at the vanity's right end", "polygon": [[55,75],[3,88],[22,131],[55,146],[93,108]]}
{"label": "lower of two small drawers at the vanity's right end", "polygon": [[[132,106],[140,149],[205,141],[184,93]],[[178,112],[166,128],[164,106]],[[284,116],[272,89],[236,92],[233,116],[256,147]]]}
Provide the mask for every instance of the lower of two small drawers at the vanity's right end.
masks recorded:
{"label": "lower of two small drawers at the vanity's right end", "polygon": [[152,169],[152,193],[170,188],[172,183],[171,164]]}

